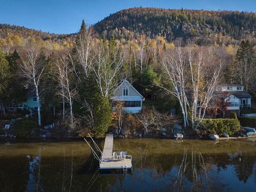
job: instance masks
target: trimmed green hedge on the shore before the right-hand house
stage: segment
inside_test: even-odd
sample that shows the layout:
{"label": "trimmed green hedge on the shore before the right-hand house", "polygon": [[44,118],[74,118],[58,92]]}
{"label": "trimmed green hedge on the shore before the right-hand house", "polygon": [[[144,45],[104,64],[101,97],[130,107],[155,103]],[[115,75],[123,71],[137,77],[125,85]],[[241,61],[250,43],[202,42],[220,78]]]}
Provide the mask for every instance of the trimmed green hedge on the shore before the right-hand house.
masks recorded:
{"label": "trimmed green hedge on the shore before the right-hand house", "polygon": [[203,119],[201,129],[211,134],[222,135],[227,133],[233,135],[240,130],[240,122],[236,119]]}

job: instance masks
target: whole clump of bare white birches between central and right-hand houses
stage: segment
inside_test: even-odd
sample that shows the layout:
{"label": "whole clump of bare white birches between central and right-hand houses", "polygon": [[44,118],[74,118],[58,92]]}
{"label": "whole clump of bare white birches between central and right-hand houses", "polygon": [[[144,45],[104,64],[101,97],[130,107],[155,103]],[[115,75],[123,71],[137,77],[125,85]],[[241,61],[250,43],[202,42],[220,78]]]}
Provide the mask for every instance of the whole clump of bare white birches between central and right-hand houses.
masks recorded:
{"label": "whole clump of bare white birches between central and right-hand houses", "polygon": [[195,50],[190,44],[187,48],[181,48],[179,42],[172,53],[163,57],[162,65],[166,79],[172,87],[160,87],[178,99],[184,126],[189,125],[188,112],[190,112],[191,126],[197,129],[214,97],[222,62],[214,59],[212,47]]}

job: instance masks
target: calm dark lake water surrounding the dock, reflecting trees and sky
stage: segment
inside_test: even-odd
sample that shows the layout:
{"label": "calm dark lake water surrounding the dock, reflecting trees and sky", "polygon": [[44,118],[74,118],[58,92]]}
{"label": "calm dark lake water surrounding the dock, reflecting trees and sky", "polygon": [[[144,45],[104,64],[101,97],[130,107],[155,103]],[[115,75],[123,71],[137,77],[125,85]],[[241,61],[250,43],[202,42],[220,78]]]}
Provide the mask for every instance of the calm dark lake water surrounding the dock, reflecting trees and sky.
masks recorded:
{"label": "calm dark lake water surrounding the dock, reflecting trees and sky", "polygon": [[132,154],[131,174],[99,174],[83,141],[0,143],[0,190],[256,191],[253,139],[114,139],[114,150]]}

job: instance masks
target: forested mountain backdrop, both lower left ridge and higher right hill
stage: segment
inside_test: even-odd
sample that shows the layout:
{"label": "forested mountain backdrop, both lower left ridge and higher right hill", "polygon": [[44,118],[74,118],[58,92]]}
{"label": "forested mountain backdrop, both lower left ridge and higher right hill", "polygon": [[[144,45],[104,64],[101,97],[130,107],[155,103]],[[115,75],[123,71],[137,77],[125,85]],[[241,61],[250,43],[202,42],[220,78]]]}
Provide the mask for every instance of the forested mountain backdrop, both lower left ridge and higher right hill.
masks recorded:
{"label": "forested mountain backdrop, both lower left ridge and higher right hill", "polygon": [[[105,17],[92,26],[98,38],[128,40],[163,37],[194,38],[198,45],[239,45],[248,39],[256,45],[256,13],[186,9],[130,8]],[[76,34],[54,34],[20,26],[0,24],[0,46],[19,47],[27,40],[39,42],[48,50],[73,48]]]}

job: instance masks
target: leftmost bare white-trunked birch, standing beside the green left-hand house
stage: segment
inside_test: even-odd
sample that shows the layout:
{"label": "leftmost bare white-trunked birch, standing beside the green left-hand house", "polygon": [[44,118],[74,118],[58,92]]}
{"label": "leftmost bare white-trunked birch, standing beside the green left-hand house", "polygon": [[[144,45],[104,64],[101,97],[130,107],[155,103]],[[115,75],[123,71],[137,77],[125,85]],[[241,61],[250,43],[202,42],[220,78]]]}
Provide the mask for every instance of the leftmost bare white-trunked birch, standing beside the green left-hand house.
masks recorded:
{"label": "leftmost bare white-trunked birch, standing beside the green left-hand house", "polygon": [[23,63],[20,65],[22,75],[28,79],[29,83],[33,84],[34,91],[36,94],[37,102],[37,115],[38,124],[41,125],[41,114],[40,114],[40,93],[39,86],[42,75],[44,73],[45,66],[38,63],[37,59],[39,56],[39,50],[35,47],[29,47],[25,50],[25,56],[23,57]]}

